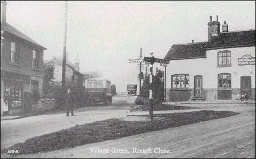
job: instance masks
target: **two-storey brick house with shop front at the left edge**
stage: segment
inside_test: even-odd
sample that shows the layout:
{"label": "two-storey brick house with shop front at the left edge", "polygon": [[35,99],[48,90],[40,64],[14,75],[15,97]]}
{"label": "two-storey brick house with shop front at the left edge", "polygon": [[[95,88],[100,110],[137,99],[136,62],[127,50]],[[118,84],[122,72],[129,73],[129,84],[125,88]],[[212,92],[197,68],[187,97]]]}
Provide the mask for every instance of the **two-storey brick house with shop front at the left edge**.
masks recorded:
{"label": "two-storey brick house with shop front at the left edge", "polygon": [[[1,3],[1,115],[3,109],[24,112],[26,92],[42,97],[43,53],[46,48],[6,22],[6,2]],[[3,34],[2,34],[3,32]],[[3,39],[2,39],[3,38]],[[8,102],[3,108],[2,102]]]}

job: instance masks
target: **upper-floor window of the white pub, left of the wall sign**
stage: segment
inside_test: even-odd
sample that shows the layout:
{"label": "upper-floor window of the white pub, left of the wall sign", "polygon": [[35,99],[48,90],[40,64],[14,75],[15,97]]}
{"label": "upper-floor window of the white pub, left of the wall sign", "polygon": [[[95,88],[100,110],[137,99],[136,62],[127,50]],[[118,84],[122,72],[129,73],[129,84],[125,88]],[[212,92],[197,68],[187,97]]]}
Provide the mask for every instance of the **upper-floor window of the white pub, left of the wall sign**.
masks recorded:
{"label": "upper-floor window of the white pub, left of the wall sign", "polygon": [[218,67],[231,67],[231,51],[218,52]]}

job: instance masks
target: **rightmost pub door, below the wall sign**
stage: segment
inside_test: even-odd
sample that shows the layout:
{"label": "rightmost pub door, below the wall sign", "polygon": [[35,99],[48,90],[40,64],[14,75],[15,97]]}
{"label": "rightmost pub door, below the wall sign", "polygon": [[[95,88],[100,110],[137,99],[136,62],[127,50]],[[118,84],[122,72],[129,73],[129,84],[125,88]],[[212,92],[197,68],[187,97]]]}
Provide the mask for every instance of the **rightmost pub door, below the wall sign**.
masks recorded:
{"label": "rightmost pub door, below the wall sign", "polygon": [[248,97],[251,97],[252,93],[252,79],[250,76],[241,77],[241,94],[247,94]]}

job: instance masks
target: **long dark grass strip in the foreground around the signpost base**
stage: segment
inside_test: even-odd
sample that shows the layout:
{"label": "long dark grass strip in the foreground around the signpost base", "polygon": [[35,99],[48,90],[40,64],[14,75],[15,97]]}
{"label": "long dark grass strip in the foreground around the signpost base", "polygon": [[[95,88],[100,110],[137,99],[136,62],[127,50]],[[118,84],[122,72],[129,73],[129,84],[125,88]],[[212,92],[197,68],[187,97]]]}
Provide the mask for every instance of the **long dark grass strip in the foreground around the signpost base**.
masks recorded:
{"label": "long dark grass strip in the foreground around the signpost base", "polygon": [[83,125],[76,125],[70,129],[30,138],[23,143],[18,143],[7,148],[4,150],[4,152],[7,152],[8,149],[19,150],[19,154],[47,152],[50,150],[70,148],[74,146],[90,144],[93,142],[133,136],[139,133],[214,120],[237,114],[239,113],[228,111],[215,112],[213,110],[201,110],[199,112],[155,114],[154,116],[161,117],[162,120],[154,121],[153,123],[139,121],[129,122],[121,121],[119,119],[97,121]]}

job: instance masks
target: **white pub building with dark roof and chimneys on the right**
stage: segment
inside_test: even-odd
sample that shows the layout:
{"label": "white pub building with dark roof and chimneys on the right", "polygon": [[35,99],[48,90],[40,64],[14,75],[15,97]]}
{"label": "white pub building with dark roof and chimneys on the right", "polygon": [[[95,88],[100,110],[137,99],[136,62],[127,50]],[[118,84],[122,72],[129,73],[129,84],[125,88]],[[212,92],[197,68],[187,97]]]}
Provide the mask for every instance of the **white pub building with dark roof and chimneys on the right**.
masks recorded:
{"label": "white pub building with dark roof and chimneys on the right", "polygon": [[174,44],[165,56],[167,101],[255,100],[255,29],[229,31],[218,15],[208,41]]}

